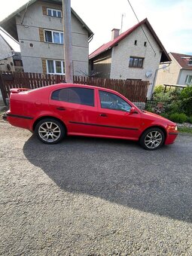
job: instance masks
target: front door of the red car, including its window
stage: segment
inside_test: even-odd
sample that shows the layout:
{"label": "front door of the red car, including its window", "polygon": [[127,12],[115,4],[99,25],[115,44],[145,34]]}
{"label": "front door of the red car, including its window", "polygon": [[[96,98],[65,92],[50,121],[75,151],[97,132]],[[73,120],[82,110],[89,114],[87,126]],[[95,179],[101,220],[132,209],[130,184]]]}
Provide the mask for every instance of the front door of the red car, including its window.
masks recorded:
{"label": "front door of the red car, including its window", "polygon": [[117,96],[99,90],[98,126],[100,136],[137,139],[139,136],[140,114],[130,113],[131,105]]}

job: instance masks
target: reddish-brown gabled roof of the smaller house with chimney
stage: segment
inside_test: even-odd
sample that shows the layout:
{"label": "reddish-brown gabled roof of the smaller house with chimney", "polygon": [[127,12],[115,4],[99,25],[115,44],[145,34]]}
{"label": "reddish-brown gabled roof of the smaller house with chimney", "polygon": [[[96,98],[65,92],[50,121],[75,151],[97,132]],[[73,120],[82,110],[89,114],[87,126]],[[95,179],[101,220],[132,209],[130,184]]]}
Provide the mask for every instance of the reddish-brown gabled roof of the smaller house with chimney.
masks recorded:
{"label": "reddish-brown gabled roof of the smaller house with chimney", "polygon": [[154,36],[154,39],[157,41],[157,44],[159,45],[160,50],[162,50],[162,56],[161,56],[160,62],[171,61],[169,54],[166,52],[166,49],[163,47],[163,44],[161,43],[160,39],[157,37],[157,34],[154,32],[154,29],[152,28],[151,24],[148,22],[147,18],[145,20],[142,20],[140,23],[137,23],[132,28],[126,30],[126,32],[123,32],[117,38],[114,38],[114,40],[109,41],[106,44],[102,44],[101,47],[93,51],[93,53],[90,53],[89,59],[93,59],[95,56],[98,56],[100,53],[103,53],[105,50],[110,50],[112,47],[117,45],[119,41],[123,40],[123,38],[126,38],[127,35],[130,35],[134,30],[136,30],[139,26],[142,26],[143,24],[145,24],[148,27],[149,31]]}

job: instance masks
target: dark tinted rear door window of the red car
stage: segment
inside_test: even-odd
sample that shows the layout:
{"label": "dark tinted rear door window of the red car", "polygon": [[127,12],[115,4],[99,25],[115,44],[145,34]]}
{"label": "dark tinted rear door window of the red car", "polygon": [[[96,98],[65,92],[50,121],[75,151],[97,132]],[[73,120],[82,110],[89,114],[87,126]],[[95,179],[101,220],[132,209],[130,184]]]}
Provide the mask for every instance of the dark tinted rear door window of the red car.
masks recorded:
{"label": "dark tinted rear door window of the red car", "polygon": [[94,106],[94,90],[78,87],[63,88],[55,90],[51,95],[51,99]]}

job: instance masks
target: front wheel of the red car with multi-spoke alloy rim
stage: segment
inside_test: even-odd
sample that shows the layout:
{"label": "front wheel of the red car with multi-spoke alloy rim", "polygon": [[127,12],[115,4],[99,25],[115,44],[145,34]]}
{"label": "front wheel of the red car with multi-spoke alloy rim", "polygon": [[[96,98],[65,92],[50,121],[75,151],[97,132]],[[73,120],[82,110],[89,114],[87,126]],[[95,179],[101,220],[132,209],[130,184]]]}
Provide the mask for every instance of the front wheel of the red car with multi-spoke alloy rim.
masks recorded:
{"label": "front wheel of the red car with multi-spoke alloy rim", "polygon": [[160,148],[165,141],[165,135],[163,130],[157,127],[151,127],[142,134],[139,139],[140,145],[142,148],[145,148],[148,151],[154,151],[157,148]]}

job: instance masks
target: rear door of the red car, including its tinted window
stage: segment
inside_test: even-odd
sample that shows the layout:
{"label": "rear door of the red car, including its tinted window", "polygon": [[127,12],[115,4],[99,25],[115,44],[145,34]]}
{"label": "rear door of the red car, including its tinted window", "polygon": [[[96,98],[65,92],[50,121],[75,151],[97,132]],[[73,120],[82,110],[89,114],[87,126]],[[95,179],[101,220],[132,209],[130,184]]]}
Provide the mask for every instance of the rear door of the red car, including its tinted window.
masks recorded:
{"label": "rear door of the red car, including its tinted window", "polygon": [[52,92],[50,105],[66,124],[69,135],[94,135],[97,108],[95,89],[65,87]]}

